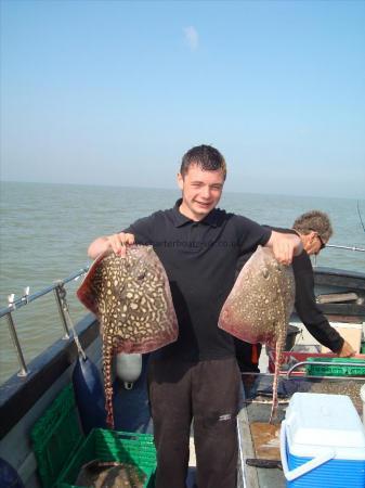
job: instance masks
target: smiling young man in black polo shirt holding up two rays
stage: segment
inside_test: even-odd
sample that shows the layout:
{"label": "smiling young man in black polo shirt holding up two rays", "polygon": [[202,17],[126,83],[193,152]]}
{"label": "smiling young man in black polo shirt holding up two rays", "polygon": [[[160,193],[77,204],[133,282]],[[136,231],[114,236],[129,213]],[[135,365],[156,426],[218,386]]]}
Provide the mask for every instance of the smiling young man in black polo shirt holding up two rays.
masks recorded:
{"label": "smiling young man in black polo shirt holding up two rays", "polygon": [[240,255],[260,244],[288,265],[302,251],[296,234],[277,233],[216,208],[225,176],[219,151],[209,145],[191,149],[178,175],[182,198],[173,208],[99,237],[89,247],[95,258],[108,248],[122,255],[133,242],[152,244],[169,278],[179,338],[152,355],[148,364],[156,488],[185,487],[193,418],[198,487],[236,486],[240,376],[233,337],[218,328],[218,317]]}

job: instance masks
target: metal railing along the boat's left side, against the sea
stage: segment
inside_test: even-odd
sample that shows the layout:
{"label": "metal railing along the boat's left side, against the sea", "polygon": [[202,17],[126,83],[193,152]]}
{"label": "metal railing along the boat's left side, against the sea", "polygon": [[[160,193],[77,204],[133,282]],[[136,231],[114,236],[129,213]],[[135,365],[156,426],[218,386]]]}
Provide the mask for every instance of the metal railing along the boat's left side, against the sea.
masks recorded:
{"label": "metal railing along the boat's left side, against the sea", "polygon": [[68,278],[66,278],[64,280],[57,280],[56,282],[54,282],[53,285],[48,286],[48,287],[41,290],[40,292],[34,293],[32,295],[29,295],[29,286],[27,286],[24,290],[24,295],[16,300],[14,299],[15,298],[14,294],[11,294],[8,296],[9,305],[8,305],[8,307],[3,307],[0,309],[0,319],[2,317],[5,317],[8,320],[10,336],[12,338],[12,342],[13,342],[13,345],[14,345],[14,348],[16,351],[17,360],[19,363],[19,368],[21,368],[21,371],[17,373],[18,376],[27,376],[29,374],[29,370],[27,369],[27,365],[26,365],[26,362],[24,359],[24,355],[23,355],[23,350],[22,350],[22,346],[21,346],[17,333],[16,333],[16,326],[15,326],[15,322],[13,319],[13,312],[15,310],[19,309],[21,307],[24,307],[25,305],[30,304],[30,301],[34,301],[37,298],[40,298],[40,297],[53,292],[56,304],[57,304],[58,312],[61,316],[64,333],[65,333],[62,338],[68,339],[69,338],[69,328],[73,326],[73,322],[71,322],[71,318],[69,316],[68,304],[67,304],[67,298],[66,298],[67,292],[66,292],[65,285],[67,283],[69,283],[70,281],[78,280],[80,277],[86,274],[88,272],[88,270],[89,270],[89,267],[82,268],[79,271],[75,272],[74,274],[69,275]]}

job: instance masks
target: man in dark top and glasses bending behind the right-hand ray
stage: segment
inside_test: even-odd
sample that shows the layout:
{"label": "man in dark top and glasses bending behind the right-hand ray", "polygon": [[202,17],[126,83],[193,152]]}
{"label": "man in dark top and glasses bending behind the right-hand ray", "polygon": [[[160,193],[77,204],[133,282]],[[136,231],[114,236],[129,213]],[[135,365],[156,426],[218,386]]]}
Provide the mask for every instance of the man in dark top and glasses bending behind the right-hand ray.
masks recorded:
{"label": "man in dark top and glasses bending behind the right-hand ray", "polygon": [[[292,232],[299,235],[304,252],[292,260],[296,279],[296,310],[309,332],[322,345],[328,347],[339,357],[353,356],[355,351],[340,334],[330,326],[326,317],[315,303],[314,275],[310,256],[317,255],[333,235],[333,227],[328,216],[320,210],[311,210],[296,219],[292,229],[276,229],[281,232]],[[240,268],[249,256],[240,259]],[[248,344],[235,339],[236,357],[242,372],[259,372],[261,344]]]}

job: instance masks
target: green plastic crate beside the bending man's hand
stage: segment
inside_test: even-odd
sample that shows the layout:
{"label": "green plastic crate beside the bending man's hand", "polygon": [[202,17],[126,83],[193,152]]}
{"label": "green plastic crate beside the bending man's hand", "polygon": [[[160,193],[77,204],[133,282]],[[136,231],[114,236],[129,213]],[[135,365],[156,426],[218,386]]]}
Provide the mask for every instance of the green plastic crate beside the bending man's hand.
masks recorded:
{"label": "green plastic crate beside the bending man's hand", "polygon": [[[305,364],[305,372],[310,376],[365,376],[365,361],[356,358],[308,358],[313,364]],[[315,364],[317,361],[330,364]],[[339,363],[350,363],[341,365]]]}

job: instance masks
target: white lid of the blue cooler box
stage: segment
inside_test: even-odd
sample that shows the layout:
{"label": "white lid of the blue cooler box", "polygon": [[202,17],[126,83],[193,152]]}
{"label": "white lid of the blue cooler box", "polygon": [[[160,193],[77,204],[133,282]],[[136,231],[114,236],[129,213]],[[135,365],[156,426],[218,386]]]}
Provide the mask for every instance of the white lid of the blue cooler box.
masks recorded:
{"label": "white lid of the blue cooler box", "polygon": [[346,395],[296,393],[285,419],[289,446],[360,448],[365,457],[365,429]]}

